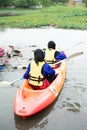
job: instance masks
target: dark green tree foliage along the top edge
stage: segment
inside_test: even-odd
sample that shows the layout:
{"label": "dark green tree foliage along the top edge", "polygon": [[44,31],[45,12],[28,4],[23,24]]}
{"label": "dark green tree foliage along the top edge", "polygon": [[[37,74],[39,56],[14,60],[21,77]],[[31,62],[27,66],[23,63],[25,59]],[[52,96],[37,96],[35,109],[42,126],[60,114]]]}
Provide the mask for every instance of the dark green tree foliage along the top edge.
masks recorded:
{"label": "dark green tree foliage along the top edge", "polygon": [[53,2],[67,2],[67,0],[0,0],[0,6],[32,7],[37,5],[49,6]]}

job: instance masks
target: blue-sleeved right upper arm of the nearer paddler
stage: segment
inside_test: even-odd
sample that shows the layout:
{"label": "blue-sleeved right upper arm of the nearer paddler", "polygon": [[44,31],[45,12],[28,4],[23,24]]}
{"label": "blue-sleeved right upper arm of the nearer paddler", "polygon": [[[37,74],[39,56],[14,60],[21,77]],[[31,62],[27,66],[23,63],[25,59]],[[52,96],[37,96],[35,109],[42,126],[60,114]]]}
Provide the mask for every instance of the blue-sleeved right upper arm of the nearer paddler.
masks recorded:
{"label": "blue-sleeved right upper arm of the nearer paddler", "polygon": [[54,70],[52,67],[50,67],[49,64],[45,63],[45,64],[43,65],[42,74],[43,74],[44,76],[47,76],[47,75],[55,75],[55,70]]}

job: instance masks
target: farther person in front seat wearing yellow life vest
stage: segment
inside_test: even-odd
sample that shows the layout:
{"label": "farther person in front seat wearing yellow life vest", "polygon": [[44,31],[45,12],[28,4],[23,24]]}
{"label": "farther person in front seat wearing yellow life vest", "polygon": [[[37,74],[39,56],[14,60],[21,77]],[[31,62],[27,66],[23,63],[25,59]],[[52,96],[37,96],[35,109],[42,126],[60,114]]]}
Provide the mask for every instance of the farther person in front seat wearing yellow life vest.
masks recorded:
{"label": "farther person in front seat wearing yellow life vest", "polygon": [[[66,58],[63,51],[56,50],[56,44],[54,41],[48,42],[48,48],[45,51],[45,61],[53,68],[55,68],[55,63]],[[58,67],[58,65],[56,66]]]}

